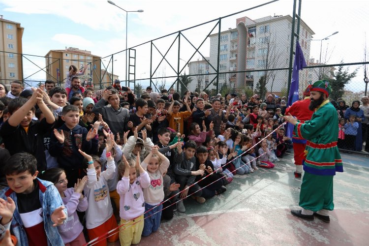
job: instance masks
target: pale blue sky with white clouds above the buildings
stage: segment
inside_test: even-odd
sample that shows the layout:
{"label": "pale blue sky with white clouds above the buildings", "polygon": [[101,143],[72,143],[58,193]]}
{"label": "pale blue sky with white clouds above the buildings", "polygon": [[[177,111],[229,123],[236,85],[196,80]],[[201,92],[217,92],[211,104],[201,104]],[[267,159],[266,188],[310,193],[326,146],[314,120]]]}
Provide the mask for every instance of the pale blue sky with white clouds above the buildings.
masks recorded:
{"label": "pale blue sky with white clouds above the buildings", "polygon": [[[142,13],[128,14],[127,45],[132,47],[263,4],[268,0],[114,0],[114,2],[128,11],[144,10]],[[275,14],[292,16],[292,10],[293,0],[279,0],[223,19],[221,30],[235,28],[236,18],[239,17],[257,19]],[[327,51],[330,57],[328,63],[362,62],[366,33],[369,33],[366,25],[369,23],[368,12],[369,4],[366,0],[302,0],[301,17],[316,33],[314,39],[321,39],[338,31],[338,34],[322,43],[322,57]],[[106,0],[0,0],[0,14],[4,19],[21,23],[25,28],[24,54],[45,56],[51,49],[76,47],[105,57],[125,49],[125,12]],[[184,33],[196,46],[214,26],[215,23],[210,23]],[[165,48],[168,48],[173,40],[174,35],[154,43],[162,49],[162,53],[165,53]],[[181,39],[181,46],[184,47],[184,51],[192,49],[185,44],[184,39]],[[209,42],[205,42],[200,50],[204,55],[209,54]],[[148,78],[150,44],[139,46],[137,52],[136,79]],[[177,55],[177,52],[176,48],[171,49],[169,55]],[[311,41],[310,58],[318,59],[319,52],[320,41]],[[183,52],[181,59],[188,60],[191,54]],[[158,57],[158,54],[154,54],[154,57]],[[45,66],[44,58],[28,58],[40,66]],[[191,61],[198,58],[200,56],[195,55]],[[106,60],[109,59],[110,57],[107,57]],[[117,60],[114,62],[114,73],[124,80],[124,69],[120,68],[124,67],[125,54],[115,55],[114,60]],[[180,63],[181,66],[184,66],[184,63]],[[358,75],[350,83],[349,89],[364,90],[362,66],[350,66],[349,70],[353,71],[355,68],[359,68]],[[111,67],[108,67],[108,70],[110,69]],[[163,74],[163,68],[160,69],[156,75]],[[25,76],[37,70],[38,68],[31,62],[24,62]],[[166,76],[172,75],[169,66],[166,66],[165,70]],[[45,74],[39,72],[31,78],[45,79]]]}

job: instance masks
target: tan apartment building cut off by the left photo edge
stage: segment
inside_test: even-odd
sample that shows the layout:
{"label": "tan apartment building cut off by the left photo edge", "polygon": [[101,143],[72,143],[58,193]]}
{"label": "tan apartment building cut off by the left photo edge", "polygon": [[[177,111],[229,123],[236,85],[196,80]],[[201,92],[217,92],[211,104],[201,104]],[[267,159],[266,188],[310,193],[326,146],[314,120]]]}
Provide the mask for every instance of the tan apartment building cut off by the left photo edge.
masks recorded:
{"label": "tan apartment building cut off by the left photo edge", "polygon": [[0,82],[10,85],[14,80],[23,79],[22,36],[24,28],[0,15]]}

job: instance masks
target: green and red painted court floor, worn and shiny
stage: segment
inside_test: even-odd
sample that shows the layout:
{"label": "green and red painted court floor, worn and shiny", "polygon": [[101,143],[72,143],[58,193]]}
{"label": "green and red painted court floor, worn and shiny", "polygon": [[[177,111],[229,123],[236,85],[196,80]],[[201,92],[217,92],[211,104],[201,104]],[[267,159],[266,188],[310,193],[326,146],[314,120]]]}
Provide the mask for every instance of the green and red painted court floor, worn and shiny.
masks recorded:
{"label": "green and red painted court floor, worn and shiny", "polygon": [[[302,179],[294,178],[293,153],[274,169],[236,175],[227,191],[162,222],[140,246],[369,245],[368,156],[342,154],[344,173],[334,178],[331,223],[297,218]],[[115,245],[119,245],[116,242]]]}

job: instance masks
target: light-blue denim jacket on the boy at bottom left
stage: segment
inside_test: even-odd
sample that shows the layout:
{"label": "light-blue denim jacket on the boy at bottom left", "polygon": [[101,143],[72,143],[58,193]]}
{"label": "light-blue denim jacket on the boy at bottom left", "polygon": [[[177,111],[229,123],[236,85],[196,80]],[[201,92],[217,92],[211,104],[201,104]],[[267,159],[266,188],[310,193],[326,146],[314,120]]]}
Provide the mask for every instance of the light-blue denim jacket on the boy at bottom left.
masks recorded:
{"label": "light-blue denim jacket on the boy at bottom left", "polygon": [[[60,196],[57,188],[53,183],[40,180],[37,178],[38,187],[40,189],[40,203],[42,204],[44,228],[47,237],[48,246],[60,246],[64,245],[62,237],[58,232],[57,227],[53,227],[53,221],[51,220],[51,215],[54,210],[60,206],[64,206],[62,202],[62,197]],[[10,196],[15,204],[16,209],[11,220],[11,232],[18,239],[17,246],[28,245],[27,234],[25,228],[23,228],[23,222],[21,216],[18,212],[17,195],[9,187],[4,188],[0,191],[0,197],[6,200],[6,197]],[[67,215],[66,209],[63,210],[65,215]],[[66,221],[66,219],[64,220]]]}

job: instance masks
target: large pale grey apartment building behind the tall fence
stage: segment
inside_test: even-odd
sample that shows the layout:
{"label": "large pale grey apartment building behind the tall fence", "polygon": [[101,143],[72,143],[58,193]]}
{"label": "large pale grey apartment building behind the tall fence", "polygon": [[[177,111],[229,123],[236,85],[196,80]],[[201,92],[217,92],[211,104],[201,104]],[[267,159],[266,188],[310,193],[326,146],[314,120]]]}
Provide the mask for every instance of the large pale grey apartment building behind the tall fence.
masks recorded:
{"label": "large pale grey apartment building behind the tall fence", "polygon": [[[252,20],[242,17],[236,20],[236,28],[220,33],[219,88],[226,84],[234,89],[254,90],[261,76],[267,76],[268,93],[279,94],[287,89],[288,70],[254,71],[258,69],[289,66],[292,17],[267,16]],[[310,57],[310,41],[315,34],[307,24],[300,23],[300,45],[306,60]],[[210,64],[216,68],[218,33],[210,35]],[[293,47],[295,49],[295,46]],[[210,66],[210,73],[215,70]],[[235,71],[246,70],[246,73]],[[214,75],[209,76],[212,81]],[[306,74],[300,72],[300,81],[307,83]],[[192,82],[194,83],[194,82]],[[215,88],[215,83],[208,89]]]}

